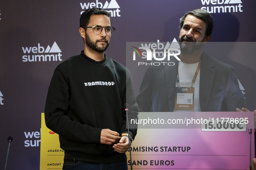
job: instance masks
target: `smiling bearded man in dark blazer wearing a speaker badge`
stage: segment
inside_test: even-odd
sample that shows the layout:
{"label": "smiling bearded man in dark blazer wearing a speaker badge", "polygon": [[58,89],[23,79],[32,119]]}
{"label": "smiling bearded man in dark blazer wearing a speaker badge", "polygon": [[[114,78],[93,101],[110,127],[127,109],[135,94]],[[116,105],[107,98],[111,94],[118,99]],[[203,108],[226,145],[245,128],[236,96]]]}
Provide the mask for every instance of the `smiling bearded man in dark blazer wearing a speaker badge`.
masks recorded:
{"label": "smiling bearded man in dark blazer wearing a speaker badge", "polygon": [[[178,69],[181,63],[185,64],[184,66],[201,63],[201,67],[196,64],[200,72],[196,78],[198,82],[193,84],[194,96],[198,96],[194,102],[198,101],[198,108],[186,111],[236,111],[237,108],[247,108],[233,68],[203,52],[204,44],[211,39],[212,29],[213,19],[202,9],[189,11],[180,19],[179,59],[181,61],[172,57],[168,62],[175,63],[174,66],[147,68],[136,98],[139,111],[175,111],[178,85],[176,78],[177,74],[182,72]],[[194,72],[191,79],[185,81],[191,82],[195,78],[193,76]]]}

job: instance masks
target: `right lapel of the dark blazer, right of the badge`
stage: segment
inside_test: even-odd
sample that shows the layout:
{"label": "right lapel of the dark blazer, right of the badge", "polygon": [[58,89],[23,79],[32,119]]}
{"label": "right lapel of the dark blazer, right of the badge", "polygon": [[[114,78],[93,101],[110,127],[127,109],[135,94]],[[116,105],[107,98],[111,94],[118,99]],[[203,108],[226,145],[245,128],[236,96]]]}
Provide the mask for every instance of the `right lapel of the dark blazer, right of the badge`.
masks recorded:
{"label": "right lapel of the dark blazer, right of the badge", "polygon": [[212,68],[214,66],[215,63],[211,60],[211,57],[203,52],[201,55],[199,87],[199,102],[202,112],[205,111],[214,84],[215,69]]}

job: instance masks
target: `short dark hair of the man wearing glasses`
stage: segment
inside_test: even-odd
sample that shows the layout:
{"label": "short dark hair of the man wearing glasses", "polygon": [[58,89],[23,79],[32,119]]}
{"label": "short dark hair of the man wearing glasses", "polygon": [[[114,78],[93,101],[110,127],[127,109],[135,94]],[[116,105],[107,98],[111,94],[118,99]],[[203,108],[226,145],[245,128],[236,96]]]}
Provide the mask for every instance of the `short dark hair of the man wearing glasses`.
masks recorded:
{"label": "short dark hair of the man wearing glasses", "polygon": [[[86,30],[85,27],[88,26],[92,15],[105,15],[110,19],[110,13],[108,13],[107,11],[105,11],[102,8],[94,7],[91,9],[86,9],[86,11],[84,11],[80,17],[80,27],[81,28],[84,28]],[[111,20],[110,20],[110,24],[111,24]]]}

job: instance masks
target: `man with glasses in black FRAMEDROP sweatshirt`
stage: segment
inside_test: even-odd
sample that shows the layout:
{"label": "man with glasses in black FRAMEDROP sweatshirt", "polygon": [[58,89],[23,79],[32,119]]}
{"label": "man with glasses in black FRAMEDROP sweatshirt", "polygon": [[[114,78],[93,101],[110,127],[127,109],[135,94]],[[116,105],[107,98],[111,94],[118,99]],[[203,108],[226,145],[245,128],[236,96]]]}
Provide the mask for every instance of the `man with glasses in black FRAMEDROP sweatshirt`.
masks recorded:
{"label": "man with glasses in black FRAMEDROP sweatshirt", "polygon": [[65,150],[63,170],[125,170],[129,119],[137,119],[138,107],[130,71],[108,58],[107,49],[115,28],[110,14],[100,8],[87,9],[80,18],[84,39],[81,54],[57,66],[45,104],[45,123],[59,134]]}

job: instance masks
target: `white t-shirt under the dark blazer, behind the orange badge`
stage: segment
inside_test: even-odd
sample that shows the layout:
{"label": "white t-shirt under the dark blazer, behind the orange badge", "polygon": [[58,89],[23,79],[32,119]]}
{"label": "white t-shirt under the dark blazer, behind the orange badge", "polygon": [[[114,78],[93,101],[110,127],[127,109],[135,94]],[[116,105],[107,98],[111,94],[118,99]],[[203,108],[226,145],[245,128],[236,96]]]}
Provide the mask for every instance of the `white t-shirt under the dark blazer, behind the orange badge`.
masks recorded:
{"label": "white t-shirt under the dark blazer, behind the orange badge", "polygon": [[[178,62],[178,75],[180,80],[180,87],[191,87],[191,82],[194,77],[194,73],[198,68],[198,63],[187,64],[181,61]],[[200,82],[200,70],[198,76],[194,82],[194,109],[193,110],[178,110],[174,109],[174,112],[201,112],[200,102],[199,102],[199,82]],[[176,83],[176,87],[177,83]]]}

